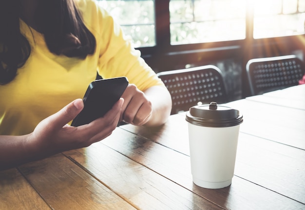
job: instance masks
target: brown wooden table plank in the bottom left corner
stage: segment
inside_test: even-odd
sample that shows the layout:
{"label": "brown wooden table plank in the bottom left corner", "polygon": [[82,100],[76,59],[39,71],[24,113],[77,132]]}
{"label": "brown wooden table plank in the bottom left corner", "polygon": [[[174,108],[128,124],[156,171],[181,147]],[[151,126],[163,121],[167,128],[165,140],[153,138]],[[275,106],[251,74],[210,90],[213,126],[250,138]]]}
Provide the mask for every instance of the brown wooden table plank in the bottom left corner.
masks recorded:
{"label": "brown wooden table plank in the bottom left corner", "polygon": [[16,168],[0,171],[0,210],[50,210]]}

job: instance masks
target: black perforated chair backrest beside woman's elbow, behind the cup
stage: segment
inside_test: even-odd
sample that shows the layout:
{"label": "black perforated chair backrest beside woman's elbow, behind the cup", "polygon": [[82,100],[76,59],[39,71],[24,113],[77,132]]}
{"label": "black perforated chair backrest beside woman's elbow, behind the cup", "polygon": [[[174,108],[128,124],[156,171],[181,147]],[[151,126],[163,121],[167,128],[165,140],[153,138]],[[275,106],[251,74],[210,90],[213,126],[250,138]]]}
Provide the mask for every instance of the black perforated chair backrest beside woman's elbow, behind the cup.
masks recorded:
{"label": "black perforated chair backrest beside woman's elbow, behind the cup", "polygon": [[191,106],[227,102],[221,71],[212,65],[157,73],[172,96],[172,113],[188,111]]}

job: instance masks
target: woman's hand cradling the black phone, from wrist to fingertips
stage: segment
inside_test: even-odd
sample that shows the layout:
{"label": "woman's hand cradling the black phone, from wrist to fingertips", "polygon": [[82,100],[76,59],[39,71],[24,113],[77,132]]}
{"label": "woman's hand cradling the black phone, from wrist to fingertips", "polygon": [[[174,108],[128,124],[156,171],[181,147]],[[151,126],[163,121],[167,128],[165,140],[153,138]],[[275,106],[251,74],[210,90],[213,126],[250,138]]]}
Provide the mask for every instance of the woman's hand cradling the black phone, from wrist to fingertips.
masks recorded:
{"label": "woman's hand cradling the black phone, from wrist to fingertips", "polygon": [[83,101],[76,99],[60,111],[41,121],[27,138],[34,150],[49,151],[49,155],[87,147],[108,137],[115,129],[123,105],[120,99],[104,117],[78,127],[67,123],[72,121],[83,109]]}

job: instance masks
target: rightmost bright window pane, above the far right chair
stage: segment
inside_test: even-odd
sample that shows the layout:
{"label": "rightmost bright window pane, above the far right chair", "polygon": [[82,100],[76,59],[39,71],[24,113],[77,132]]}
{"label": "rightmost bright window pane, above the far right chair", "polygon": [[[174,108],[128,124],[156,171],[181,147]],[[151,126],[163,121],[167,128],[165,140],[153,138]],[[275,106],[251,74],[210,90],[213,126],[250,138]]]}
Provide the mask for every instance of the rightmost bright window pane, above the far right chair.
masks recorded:
{"label": "rightmost bright window pane, above the far right chair", "polygon": [[253,37],[304,34],[305,0],[252,0]]}

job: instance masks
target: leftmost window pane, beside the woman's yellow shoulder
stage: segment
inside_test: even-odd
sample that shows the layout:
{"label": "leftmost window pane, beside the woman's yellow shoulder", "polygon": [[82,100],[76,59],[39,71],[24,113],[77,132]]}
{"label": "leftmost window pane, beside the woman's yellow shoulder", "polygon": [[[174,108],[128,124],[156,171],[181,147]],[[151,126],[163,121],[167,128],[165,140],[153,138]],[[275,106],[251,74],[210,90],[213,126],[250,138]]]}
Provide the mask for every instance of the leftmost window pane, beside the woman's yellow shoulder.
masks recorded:
{"label": "leftmost window pane, beside the woman's yellow shoulder", "polygon": [[133,47],[155,46],[154,0],[97,0],[121,25]]}

